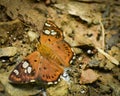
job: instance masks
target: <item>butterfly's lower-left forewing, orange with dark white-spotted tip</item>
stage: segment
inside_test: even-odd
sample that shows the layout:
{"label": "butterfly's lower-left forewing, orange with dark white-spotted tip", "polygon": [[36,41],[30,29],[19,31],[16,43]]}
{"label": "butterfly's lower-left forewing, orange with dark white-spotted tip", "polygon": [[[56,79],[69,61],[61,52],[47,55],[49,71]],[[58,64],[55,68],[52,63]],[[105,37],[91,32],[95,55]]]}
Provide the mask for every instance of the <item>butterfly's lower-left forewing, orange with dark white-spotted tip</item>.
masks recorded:
{"label": "butterfly's lower-left forewing, orange with dark white-spotted tip", "polygon": [[38,78],[39,63],[39,52],[31,53],[15,67],[9,76],[9,80],[14,83],[29,83],[35,81]]}

